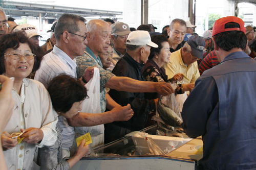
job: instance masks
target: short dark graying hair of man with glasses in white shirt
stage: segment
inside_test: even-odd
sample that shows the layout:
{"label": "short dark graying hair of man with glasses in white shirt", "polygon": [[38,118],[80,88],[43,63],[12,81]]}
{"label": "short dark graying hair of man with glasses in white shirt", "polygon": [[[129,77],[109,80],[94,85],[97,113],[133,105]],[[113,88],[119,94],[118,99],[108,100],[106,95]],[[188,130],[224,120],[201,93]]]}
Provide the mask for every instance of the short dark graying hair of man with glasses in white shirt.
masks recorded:
{"label": "short dark graying hair of man with glasses in white shirt", "polygon": [[60,35],[64,31],[69,31],[72,33],[79,31],[78,21],[85,22],[86,19],[75,14],[62,14],[54,29],[56,40],[60,40]]}

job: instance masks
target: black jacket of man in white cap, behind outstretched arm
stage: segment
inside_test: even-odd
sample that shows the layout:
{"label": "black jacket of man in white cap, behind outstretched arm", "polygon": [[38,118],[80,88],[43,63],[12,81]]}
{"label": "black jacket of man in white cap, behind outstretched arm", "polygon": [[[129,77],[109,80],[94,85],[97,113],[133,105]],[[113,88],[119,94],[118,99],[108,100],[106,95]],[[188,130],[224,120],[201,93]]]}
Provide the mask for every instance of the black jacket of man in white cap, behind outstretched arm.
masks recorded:
{"label": "black jacket of man in white cap, behind outstretched arm", "polygon": [[[145,81],[141,73],[143,66],[144,64],[138,63],[129,54],[125,53],[117,62],[112,73],[116,76],[130,77],[132,79]],[[132,131],[143,129],[148,113],[156,110],[155,101],[145,99],[144,95],[145,93],[133,93],[111,89],[110,96],[114,101],[121,106],[130,104],[134,111],[134,116],[130,120],[113,122],[112,124]]]}

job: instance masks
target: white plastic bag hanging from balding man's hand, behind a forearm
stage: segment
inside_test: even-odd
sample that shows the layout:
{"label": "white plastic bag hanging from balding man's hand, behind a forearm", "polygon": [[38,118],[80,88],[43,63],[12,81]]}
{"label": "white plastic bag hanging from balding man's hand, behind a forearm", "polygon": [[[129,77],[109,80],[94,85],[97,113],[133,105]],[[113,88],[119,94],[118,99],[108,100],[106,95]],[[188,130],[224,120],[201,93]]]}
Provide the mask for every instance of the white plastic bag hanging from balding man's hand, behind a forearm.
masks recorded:
{"label": "white plastic bag hanging from balding man's hand, behind a forearm", "polygon": [[[101,113],[99,80],[99,68],[95,67],[93,78],[85,85],[89,98],[86,98],[82,102],[81,112]],[[75,127],[75,130],[76,133],[78,133],[76,134],[76,137],[90,132],[92,137],[92,143],[90,144],[90,147],[92,148],[104,144],[104,125],[97,125],[93,127]]]}

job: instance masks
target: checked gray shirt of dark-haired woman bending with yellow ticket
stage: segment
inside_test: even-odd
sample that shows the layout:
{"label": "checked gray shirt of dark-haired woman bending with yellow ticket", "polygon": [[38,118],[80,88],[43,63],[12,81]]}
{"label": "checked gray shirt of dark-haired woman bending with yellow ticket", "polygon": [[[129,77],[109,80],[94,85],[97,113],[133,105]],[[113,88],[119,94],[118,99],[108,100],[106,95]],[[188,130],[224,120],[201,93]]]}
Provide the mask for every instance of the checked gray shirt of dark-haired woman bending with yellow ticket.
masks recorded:
{"label": "checked gray shirt of dark-haired woman bending with yellow ticket", "polygon": [[41,169],[69,169],[69,163],[62,160],[62,129],[59,124],[56,125],[56,131],[58,134],[57,140],[51,147],[45,146],[39,148],[39,160],[41,163]]}

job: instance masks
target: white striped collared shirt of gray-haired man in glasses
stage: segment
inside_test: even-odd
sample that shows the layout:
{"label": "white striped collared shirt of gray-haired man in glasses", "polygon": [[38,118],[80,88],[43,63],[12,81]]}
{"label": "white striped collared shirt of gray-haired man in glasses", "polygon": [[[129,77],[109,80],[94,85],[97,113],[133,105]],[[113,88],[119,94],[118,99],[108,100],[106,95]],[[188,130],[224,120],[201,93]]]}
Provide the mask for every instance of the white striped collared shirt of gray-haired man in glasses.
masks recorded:
{"label": "white striped collared shirt of gray-haired man in glasses", "polygon": [[76,60],[72,60],[65,52],[54,45],[53,51],[42,59],[34,80],[41,82],[47,88],[49,82],[62,73],[76,78]]}

